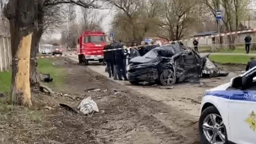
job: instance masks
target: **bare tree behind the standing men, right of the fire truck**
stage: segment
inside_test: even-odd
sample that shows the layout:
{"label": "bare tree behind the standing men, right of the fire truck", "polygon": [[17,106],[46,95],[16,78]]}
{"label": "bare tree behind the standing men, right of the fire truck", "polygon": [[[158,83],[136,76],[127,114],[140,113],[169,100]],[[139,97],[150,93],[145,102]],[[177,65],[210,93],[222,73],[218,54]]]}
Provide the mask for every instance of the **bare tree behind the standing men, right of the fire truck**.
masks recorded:
{"label": "bare tree behind the standing men, right of the fire truck", "polygon": [[118,9],[112,22],[117,37],[140,43],[147,33],[157,29],[157,3],[154,0],[107,0]]}

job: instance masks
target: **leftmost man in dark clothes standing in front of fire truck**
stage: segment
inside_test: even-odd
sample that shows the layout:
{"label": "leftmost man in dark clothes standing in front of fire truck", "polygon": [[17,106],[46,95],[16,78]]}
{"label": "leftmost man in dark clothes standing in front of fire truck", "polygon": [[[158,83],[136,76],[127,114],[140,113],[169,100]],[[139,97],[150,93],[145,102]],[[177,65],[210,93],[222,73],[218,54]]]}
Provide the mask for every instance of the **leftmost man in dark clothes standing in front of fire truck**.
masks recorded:
{"label": "leftmost man in dark clothes standing in front of fire truck", "polygon": [[[110,44],[107,44],[104,46],[103,50],[111,50],[112,46]],[[109,72],[109,78],[114,76],[114,57],[113,57],[113,51],[105,51],[104,52],[104,60],[107,63],[107,70]]]}

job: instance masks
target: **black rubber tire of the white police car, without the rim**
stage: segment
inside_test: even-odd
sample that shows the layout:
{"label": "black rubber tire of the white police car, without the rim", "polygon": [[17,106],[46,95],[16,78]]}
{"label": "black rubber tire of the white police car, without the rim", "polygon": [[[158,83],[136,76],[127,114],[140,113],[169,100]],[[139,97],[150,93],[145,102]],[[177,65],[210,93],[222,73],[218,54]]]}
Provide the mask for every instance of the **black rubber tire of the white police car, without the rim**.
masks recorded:
{"label": "black rubber tire of the white police car, without the rim", "polygon": [[[207,136],[206,136],[206,134],[204,133],[204,130],[203,130],[203,124],[204,124],[205,119],[207,119],[207,117],[212,115],[212,114],[220,116],[219,111],[214,106],[210,106],[210,107],[206,108],[205,110],[203,110],[203,112],[200,115],[200,118],[199,118],[199,133],[200,133],[200,142],[201,142],[201,144],[213,144],[206,138]],[[223,121],[221,116],[220,116],[220,118]],[[219,119],[219,117],[218,117],[218,119]],[[213,130],[212,130],[212,132],[213,132]],[[224,132],[224,135],[225,135],[225,140],[224,140],[225,142],[223,144],[228,144],[228,137],[227,137],[226,127],[225,127],[224,124],[223,124],[223,129],[221,130],[221,132],[222,133]],[[217,138],[220,138],[219,135],[217,136]]]}

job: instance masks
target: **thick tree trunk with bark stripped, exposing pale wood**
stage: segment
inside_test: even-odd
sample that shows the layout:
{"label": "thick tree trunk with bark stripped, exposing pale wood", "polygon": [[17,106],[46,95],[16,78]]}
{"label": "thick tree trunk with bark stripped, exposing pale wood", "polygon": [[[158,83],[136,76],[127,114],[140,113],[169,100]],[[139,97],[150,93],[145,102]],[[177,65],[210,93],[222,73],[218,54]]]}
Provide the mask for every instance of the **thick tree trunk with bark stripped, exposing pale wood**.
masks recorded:
{"label": "thick tree trunk with bark stripped, exposing pale wood", "polygon": [[30,50],[35,22],[34,0],[10,0],[8,19],[11,30],[12,63],[11,102],[31,106],[29,83]]}

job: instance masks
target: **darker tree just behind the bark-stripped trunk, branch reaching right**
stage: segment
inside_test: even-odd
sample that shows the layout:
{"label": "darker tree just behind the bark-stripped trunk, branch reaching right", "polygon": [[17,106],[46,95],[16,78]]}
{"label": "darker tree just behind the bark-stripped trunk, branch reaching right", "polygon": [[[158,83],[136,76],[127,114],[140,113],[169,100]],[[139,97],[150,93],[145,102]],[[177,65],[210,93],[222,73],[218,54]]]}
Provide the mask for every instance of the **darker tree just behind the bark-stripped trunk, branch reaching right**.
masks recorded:
{"label": "darker tree just behind the bark-stripped trunk, branch reaching right", "polygon": [[[56,29],[58,25],[63,23],[64,12],[66,8],[64,4],[73,3],[83,8],[100,8],[95,4],[97,0],[39,0],[40,6],[37,11],[38,20],[35,22],[37,25],[34,27],[31,45],[31,58],[36,58],[39,50],[39,42],[45,29]],[[74,42],[72,42],[74,43]],[[36,70],[36,59],[31,60],[30,82],[31,86],[40,86],[39,72]]]}

